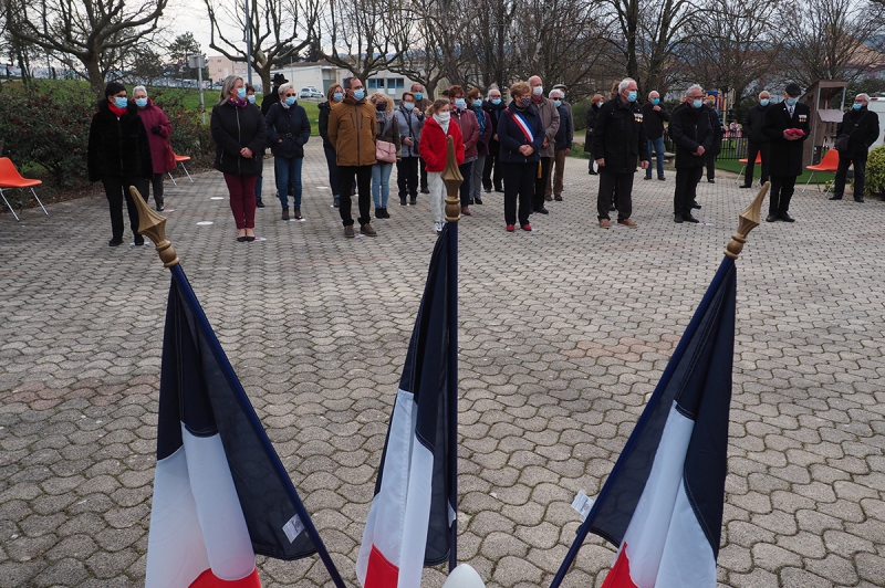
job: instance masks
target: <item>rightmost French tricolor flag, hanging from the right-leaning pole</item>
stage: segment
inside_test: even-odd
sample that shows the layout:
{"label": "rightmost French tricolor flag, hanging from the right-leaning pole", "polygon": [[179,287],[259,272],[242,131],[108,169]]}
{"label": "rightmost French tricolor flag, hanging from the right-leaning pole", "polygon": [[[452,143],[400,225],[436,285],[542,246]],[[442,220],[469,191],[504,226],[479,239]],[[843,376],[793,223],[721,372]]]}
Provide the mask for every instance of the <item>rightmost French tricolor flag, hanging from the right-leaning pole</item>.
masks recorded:
{"label": "rightmost French tricolor flag, hanging from the right-leaning pole", "polygon": [[736,273],[725,258],[552,587],[592,532],[618,548],[603,588],[716,588]]}

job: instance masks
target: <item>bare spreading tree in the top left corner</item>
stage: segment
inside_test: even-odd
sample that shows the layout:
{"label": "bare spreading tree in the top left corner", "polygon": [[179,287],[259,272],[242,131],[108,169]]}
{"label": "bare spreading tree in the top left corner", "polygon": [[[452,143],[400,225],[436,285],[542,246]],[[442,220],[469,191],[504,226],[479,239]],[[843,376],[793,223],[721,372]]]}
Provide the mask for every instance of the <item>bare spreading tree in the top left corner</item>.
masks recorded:
{"label": "bare spreading tree in the top left corner", "polygon": [[167,0],[8,0],[7,23],[18,41],[42,48],[85,70],[101,96],[122,53],[158,30]]}

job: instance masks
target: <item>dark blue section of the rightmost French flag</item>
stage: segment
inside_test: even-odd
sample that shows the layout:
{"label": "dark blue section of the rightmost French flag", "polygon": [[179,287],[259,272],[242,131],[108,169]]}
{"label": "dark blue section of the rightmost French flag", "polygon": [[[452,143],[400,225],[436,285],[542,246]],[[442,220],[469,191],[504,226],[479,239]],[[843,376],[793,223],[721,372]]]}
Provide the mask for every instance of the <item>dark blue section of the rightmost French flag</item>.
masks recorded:
{"label": "dark blue section of the rightmost French flag", "polygon": [[735,261],[725,258],[585,524],[620,546],[639,502],[670,409],[695,420],[686,494],[715,556],[719,553],[735,353]]}

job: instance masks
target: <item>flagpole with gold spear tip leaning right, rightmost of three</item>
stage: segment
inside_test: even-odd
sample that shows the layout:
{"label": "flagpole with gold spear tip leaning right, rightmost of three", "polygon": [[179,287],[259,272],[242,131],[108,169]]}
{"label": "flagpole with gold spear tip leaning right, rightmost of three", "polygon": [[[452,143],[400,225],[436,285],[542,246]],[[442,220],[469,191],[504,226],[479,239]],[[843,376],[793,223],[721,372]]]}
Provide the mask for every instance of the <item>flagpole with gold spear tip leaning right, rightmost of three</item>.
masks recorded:
{"label": "flagpole with gold spear tip leaning right, rightmost of three", "polygon": [[[743,210],[743,212],[740,213],[738,218],[739,220],[738,230],[735,232],[735,234],[731,235],[731,240],[728,242],[728,245],[726,246],[725,250],[726,258],[720,263],[719,270],[716,272],[716,275],[714,276],[710,283],[710,286],[707,288],[707,293],[700,301],[700,304],[695,311],[695,315],[691,317],[691,321],[686,327],[685,333],[687,334],[693,333],[694,330],[697,329],[698,324],[701,322],[704,315],[707,312],[707,307],[712,303],[714,293],[718,290],[719,284],[722,282],[722,280],[725,280],[726,276],[731,272],[732,266],[735,264],[735,260],[738,259],[738,255],[743,249],[743,244],[747,242],[747,235],[754,228],[759,227],[762,201],[766,198],[766,193],[768,192],[769,186],[770,186],[769,182],[766,182],[759,190],[759,193],[756,196],[750,206],[747,207]],[[676,349],[673,353],[673,356],[670,357],[669,363],[667,364],[667,367],[664,369],[664,374],[660,376],[660,382],[667,382],[673,377],[673,372],[676,370],[676,367],[679,364],[679,359],[685,354],[686,348],[688,347],[689,338],[690,337],[686,337],[685,335],[683,335],[679,345],[677,345]],[[565,555],[565,559],[562,560],[559,570],[556,570],[556,575],[553,577],[553,581],[550,584],[550,588],[559,588],[559,586],[562,584],[562,580],[565,579],[565,574],[572,566],[572,563],[574,561],[575,557],[577,557],[577,552],[581,550],[581,546],[584,544],[584,539],[586,539],[586,536],[590,533],[591,526],[593,525],[593,522],[595,521],[596,515],[598,513],[600,505],[604,504],[605,500],[608,496],[610,492],[608,480],[614,480],[617,476],[620,470],[622,469],[622,465],[626,462],[627,458],[629,456],[633,450],[634,440],[639,437],[639,433],[643,431],[643,429],[645,429],[646,422],[650,417],[650,411],[648,410],[648,407],[653,407],[659,402],[659,398],[663,395],[665,388],[666,386],[662,386],[660,384],[658,384],[658,387],[655,389],[654,393],[652,395],[652,398],[648,399],[646,408],[645,410],[643,410],[642,417],[639,417],[639,420],[636,422],[636,427],[634,427],[633,432],[629,435],[629,439],[627,439],[627,442],[621,452],[621,455],[615,462],[614,468],[612,468],[612,472],[608,474],[606,483],[600,491],[600,494],[596,497],[596,501],[593,503],[590,513],[587,513],[587,517],[584,519],[581,526],[577,527],[574,543],[572,543],[572,546],[569,548],[569,553]]]}

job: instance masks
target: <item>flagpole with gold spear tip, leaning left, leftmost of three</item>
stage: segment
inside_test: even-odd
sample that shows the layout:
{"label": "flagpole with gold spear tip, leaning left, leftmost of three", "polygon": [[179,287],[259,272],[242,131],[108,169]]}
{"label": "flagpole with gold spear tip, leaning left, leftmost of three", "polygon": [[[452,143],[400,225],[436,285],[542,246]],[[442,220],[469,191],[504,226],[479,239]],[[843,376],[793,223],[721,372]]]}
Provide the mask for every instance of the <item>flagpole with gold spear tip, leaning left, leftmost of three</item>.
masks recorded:
{"label": "flagpole with gold spear tip, leaning left, leftmost of three", "polygon": [[[181,270],[180,267],[179,259],[178,255],[175,253],[175,249],[173,249],[169,240],[166,239],[166,218],[150,210],[145,203],[144,198],[142,198],[142,195],[134,186],[129,187],[129,191],[132,193],[132,199],[135,202],[135,207],[138,209],[138,219],[139,219],[138,232],[147,237],[155,243],[157,253],[159,254],[159,258],[163,261],[164,266],[169,269],[169,271],[173,274],[173,280],[175,280],[175,283],[178,285],[179,292],[188,301],[188,306],[192,311],[195,311],[194,318],[197,321],[200,330],[202,332],[207,343],[209,344],[209,347],[216,355],[217,359],[223,358],[223,349],[221,349],[221,344],[215,336],[215,332],[209,325],[209,321],[206,317],[206,314],[202,312],[202,307],[197,301],[197,296],[194,293],[194,290],[190,287],[190,283],[187,281],[187,276],[185,275],[184,270]],[[289,477],[289,472],[285,471],[285,468],[283,466],[282,462],[277,455],[277,451],[270,443],[270,440],[268,439],[268,435],[264,432],[263,427],[261,427],[261,422],[259,421],[258,416],[256,414],[254,409],[252,408],[252,405],[246,398],[246,392],[242,390],[242,386],[239,384],[237,375],[233,374],[233,369],[230,367],[230,363],[227,360],[223,361],[219,360],[218,364],[219,366],[221,366],[222,371],[225,372],[225,378],[228,380],[228,384],[231,385],[231,389],[235,391],[238,390],[240,392],[236,395],[236,398],[240,403],[240,408],[243,410],[246,414],[249,416],[249,420],[251,421],[252,427],[256,429],[256,432],[259,433],[262,444],[264,444],[266,449],[269,450],[268,454],[274,458],[273,469],[277,471],[277,475],[280,476],[281,480],[288,482],[288,484],[285,484],[285,490],[287,493],[289,494],[289,498],[292,501],[295,507],[295,513],[301,519],[301,524],[304,525],[304,531],[308,533],[308,535],[310,535],[311,540],[313,542],[313,546],[316,548],[316,552],[320,555],[320,559],[323,561],[323,565],[325,565],[325,568],[329,571],[332,581],[335,584],[337,588],[345,588],[344,580],[341,578],[341,574],[339,574],[335,564],[332,561],[332,557],[330,556],[329,550],[325,547],[325,544],[323,544],[323,540],[320,537],[316,527],[313,525],[313,519],[311,518],[310,514],[308,514],[306,508],[304,508],[304,504],[301,502],[301,497],[298,495],[298,492],[295,492],[294,487],[292,486],[291,479]]]}

